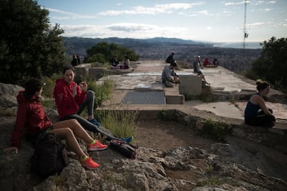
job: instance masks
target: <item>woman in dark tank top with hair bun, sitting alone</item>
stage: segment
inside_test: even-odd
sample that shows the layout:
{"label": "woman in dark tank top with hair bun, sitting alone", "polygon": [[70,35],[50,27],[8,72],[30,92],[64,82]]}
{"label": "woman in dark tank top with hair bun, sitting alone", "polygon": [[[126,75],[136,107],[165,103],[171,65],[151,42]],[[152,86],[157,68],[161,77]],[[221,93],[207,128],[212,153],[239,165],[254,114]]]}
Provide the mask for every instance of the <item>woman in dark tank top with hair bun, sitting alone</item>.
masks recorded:
{"label": "woman in dark tank top with hair bun, sitting alone", "polygon": [[270,84],[256,80],[257,93],[248,100],[245,111],[244,120],[247,125],[273,127],[275,125],[275,116],[272,109],[267,108],[263,96],[267,96],[270,91]]}

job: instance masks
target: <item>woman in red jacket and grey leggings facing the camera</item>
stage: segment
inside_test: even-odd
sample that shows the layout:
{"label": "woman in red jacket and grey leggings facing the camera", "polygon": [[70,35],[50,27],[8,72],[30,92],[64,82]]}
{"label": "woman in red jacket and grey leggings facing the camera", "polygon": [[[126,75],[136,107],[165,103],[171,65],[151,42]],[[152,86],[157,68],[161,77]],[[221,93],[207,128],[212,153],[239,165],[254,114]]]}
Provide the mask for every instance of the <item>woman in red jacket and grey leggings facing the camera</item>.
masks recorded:
{"label": "woman in red jacket and grey leggings facing the camera", "polygon": [[[76,119],[86,130],[106,136],[106,140],[117,139],[111,136],[107,129],[103,129],[94,118],[94,91],[87,91],[86,82],[76,84],[73,81],[76,73],[72,66],[65,66],[62,73],[64,76],[56,80],[53,92],[60,120]],[[86,106],[87,120],[79,116]],[[130,142],[132,137],[122,140]]]}

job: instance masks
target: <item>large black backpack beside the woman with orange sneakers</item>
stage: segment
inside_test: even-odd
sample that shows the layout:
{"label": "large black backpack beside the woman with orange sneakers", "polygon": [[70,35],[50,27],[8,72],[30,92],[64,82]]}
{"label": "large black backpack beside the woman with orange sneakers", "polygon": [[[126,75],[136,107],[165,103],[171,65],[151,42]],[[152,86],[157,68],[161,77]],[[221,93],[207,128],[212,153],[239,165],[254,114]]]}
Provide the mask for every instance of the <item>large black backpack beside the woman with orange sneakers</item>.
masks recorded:
{"label": "large black backpack beside the woman with orange sneakers", "polygon": [[31,171],[46,178],[60,172],[69,163],[67,149],[56,134],[43,133],[37,137],[31,157]]}

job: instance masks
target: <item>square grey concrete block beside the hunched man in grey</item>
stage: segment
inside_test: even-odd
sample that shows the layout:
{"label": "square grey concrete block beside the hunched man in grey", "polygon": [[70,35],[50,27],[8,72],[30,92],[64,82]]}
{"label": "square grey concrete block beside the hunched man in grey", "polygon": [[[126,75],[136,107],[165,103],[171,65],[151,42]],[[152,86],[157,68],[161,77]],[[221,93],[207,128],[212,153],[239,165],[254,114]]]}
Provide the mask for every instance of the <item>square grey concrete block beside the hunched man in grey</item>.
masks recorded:
{"label": "square grey concrete block beside the hunched man in grey", "polygon": [[202,80],[198,75],[180,75],[180,94],[190,97],[202,93]]}

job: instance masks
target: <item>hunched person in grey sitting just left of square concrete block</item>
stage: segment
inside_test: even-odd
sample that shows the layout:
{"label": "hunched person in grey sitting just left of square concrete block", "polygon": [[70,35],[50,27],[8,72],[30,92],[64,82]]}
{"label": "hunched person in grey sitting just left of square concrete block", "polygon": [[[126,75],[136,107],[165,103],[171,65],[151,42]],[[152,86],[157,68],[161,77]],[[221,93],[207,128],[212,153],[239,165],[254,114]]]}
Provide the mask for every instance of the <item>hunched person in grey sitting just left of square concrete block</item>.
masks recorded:
{"label": "hunched person in grey sitting just left of square concrete block", "polygon": [[180,78],[177,75],[172,75],[172,71],[177,67],[176,62],[170,64],[170,66],[164,66],[162,71],[162,84],[166,87],[173,87],[173,84],[180,83]]}

